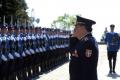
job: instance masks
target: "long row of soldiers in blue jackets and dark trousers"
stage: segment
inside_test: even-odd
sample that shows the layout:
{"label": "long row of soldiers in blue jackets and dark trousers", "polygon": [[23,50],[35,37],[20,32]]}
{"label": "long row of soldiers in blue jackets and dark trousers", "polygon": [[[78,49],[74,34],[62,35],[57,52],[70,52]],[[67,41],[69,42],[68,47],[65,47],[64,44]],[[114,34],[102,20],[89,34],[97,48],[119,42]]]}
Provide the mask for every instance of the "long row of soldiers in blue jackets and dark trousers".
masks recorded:
{"label": "long row of soldiers in blue jackets and dark trousers", "polygon": [[0,80],[31,80],[68,61],[70,31],[0,26]]}

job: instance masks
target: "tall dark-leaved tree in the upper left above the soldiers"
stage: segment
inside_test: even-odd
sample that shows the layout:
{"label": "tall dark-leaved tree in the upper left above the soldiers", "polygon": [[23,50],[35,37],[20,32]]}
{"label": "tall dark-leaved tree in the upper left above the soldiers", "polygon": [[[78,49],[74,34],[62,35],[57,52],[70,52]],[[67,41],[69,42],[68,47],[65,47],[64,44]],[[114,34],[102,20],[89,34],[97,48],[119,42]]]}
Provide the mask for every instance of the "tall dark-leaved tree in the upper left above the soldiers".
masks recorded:
{"label": "tall dark-leaved tree in the upper left above the soldiers", "polygon": [[10,24],[11,18],[15,24],[18,18],[28,19],[26,12],[27,4],[25,0],[0,0],[0,17],[1,23],[3,22],[3,16],[6,16],[6,22]]}

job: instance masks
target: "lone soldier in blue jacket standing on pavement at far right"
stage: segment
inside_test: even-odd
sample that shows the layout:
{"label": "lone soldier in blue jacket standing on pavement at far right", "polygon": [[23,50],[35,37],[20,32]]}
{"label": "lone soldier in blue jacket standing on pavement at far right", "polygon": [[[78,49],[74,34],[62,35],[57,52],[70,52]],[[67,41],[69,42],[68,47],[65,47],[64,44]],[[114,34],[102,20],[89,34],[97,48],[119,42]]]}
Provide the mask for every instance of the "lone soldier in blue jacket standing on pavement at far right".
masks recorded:
{"label": "lone soldier in blue jacket standing on pavement at far right", "polygon": [[[120,48],[119,34],[114,32],[114,24],[110,25],[111,32],[106,33],[105,42],[107,44],[107,55],[109,60],[109,73],[115,73],[117,52]],[[112,64],[113,60],[113,64]]]}

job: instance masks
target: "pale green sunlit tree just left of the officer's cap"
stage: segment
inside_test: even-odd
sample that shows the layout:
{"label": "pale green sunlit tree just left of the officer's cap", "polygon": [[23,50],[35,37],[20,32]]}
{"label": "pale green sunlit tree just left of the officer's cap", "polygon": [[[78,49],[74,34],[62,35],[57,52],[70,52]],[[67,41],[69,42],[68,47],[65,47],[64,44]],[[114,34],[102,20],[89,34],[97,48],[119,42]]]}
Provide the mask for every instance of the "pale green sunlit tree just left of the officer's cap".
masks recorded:
{"label": "pale green sunlit tree just left of the officer's cap", "polygon": [[64,14],[63,16],[59,16],[57,20],[54,20],[51,26],[53,28],[70,29],[73,27],[75,19],[74,15]]}

